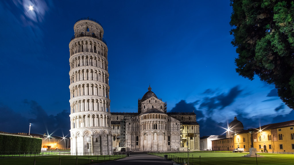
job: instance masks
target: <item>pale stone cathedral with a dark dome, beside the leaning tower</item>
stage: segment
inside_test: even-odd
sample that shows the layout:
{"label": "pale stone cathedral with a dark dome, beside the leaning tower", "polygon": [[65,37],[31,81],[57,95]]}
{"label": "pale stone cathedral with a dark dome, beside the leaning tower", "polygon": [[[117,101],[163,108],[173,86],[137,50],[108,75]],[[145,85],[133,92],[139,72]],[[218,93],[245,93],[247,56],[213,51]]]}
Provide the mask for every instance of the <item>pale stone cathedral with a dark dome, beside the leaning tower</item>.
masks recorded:
{"label": "pale stone cathedral with a dark dome, beside the leaning tower", "polygon": [[194,112],[166,112],[166,102],[148,87],[138,99],[138,113],[113,112],[113,148],[127,151],[199,150]]}

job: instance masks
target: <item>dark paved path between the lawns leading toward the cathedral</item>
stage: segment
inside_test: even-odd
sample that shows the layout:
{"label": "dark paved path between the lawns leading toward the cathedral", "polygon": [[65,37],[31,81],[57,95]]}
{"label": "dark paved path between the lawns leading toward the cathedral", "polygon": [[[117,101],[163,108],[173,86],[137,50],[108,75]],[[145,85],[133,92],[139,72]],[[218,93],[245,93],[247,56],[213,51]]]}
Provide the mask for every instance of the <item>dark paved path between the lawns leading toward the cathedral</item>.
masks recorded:
{"label": "dark paved path between the lawns leading toward the cathedral", "polygon": [[132,155],[130,153],[130,156],[114,160],[114,161],[108,161],[103,162],[100,164],[103,165],[173,165],[173,161],[171,160],[164,160],[163,157],[149,155],[149,154],[136,154]]}

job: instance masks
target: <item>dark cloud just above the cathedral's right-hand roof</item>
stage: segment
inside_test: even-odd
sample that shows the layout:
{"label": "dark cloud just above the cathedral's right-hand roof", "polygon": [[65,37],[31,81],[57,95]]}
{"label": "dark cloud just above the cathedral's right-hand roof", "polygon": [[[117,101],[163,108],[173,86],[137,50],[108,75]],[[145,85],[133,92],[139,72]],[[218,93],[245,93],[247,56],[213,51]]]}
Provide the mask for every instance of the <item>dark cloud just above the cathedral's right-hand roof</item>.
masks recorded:
{"label": "dark cloud just above the cathedral's right-hand roof", "polygon": [[176,103],[176,106],[171,109],[170,112],[194,112],[197,115],[197,118],[204,117],[202,111],[198,111],[195,108],[198,101],[186,103],[185,100],[181,100],[180,102]]}

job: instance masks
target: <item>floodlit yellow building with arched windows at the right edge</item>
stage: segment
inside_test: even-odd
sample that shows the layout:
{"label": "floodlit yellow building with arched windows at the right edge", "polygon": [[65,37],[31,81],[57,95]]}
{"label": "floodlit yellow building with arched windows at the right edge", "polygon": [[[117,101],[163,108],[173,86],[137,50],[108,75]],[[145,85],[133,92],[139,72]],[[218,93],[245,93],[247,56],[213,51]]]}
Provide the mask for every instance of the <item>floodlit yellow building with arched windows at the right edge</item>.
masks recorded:
{"label": "floodlit yellow building with arched windows at the right edge", "polygon": [[244,148],[244,151],[249,151],[252,134],[253,147],[259,152],[294,153],[293,127],[294,120],[291,120],[242,130],[234,134],[234,148]]}

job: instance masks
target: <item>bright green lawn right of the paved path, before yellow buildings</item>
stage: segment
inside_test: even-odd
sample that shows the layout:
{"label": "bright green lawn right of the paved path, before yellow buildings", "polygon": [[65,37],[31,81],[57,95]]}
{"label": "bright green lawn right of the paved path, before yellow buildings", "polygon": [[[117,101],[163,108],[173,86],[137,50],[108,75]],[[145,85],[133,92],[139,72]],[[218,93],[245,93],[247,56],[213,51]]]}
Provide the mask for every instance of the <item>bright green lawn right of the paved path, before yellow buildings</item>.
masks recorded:
{"label": "bright green lawn right of the paved path, before yellow buildings", "polygon": [[[168,159],[173,159],[176,162],[182,163],[185,160],[188,163],[187,152],[179,153],[151,153],[158,156],[168,155]],[[233,153],[233,152],[189,152],[190,165],[227,165],[227,164],[258,164],[258,165],[290,165],[294,164],[294,154],[269,154],[258,153],[263,157],[242,157],[248,153]],[[176,159],[176,158],[178,159]],[[181,160],[180,160],[181,159]]]}

